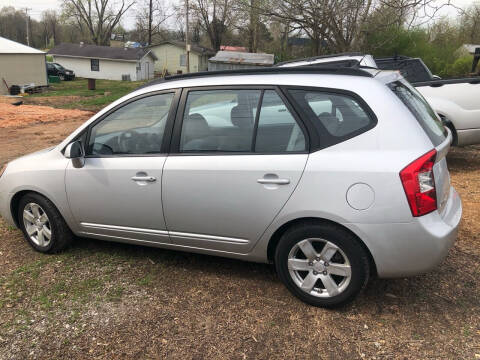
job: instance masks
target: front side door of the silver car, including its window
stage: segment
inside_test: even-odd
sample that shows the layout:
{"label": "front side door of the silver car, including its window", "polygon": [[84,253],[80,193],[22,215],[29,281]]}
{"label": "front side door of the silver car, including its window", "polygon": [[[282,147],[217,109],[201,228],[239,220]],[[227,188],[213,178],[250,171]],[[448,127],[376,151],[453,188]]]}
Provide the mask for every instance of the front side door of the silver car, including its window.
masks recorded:
{"label": "front side door of the silver car, including its window", "polygon": [[169,242],[162,210],[162,169],[175,99],[176,92],[133,99],[85,133],[85,165],[70,164],[65,179],[81,233]]}

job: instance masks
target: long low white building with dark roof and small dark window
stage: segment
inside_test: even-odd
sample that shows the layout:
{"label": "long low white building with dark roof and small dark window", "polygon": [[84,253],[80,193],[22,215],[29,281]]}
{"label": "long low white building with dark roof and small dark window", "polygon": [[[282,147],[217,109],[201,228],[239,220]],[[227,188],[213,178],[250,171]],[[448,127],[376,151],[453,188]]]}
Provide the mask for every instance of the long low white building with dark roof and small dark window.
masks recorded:
{"label": "long low white building with dark roof and small dark window", "polygon": [[148,80],[153,78],[157,57],[141,48],[62,43],[48,52],[53,61],[75,76],[107,80]]}

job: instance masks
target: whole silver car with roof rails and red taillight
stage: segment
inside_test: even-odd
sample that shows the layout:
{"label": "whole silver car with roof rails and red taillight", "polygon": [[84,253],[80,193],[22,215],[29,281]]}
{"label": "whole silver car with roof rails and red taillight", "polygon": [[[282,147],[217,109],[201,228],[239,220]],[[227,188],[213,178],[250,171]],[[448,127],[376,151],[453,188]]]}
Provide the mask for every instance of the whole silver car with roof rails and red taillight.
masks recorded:
{"label": "whole silver car with roof rails and red taillight", "polygon": [[462,213],[450,142],[395,72],[176,76],[3,167],[0,213],[45,253],[76,235],[272,262],[329,307],[446,256]]}

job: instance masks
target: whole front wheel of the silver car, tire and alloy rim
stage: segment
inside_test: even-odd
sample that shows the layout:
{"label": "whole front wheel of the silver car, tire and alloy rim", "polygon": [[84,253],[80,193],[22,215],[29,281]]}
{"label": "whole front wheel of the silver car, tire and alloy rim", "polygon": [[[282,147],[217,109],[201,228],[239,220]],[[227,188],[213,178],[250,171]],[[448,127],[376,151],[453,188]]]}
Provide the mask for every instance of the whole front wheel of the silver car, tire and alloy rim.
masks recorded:
{"label": "whole front wheel of the silver car, tire and alloy rim", "polygon": [[60,252],[73,240],[70,228],[55,205],[40,194],[24,195],[20,199],[17,216],[23,236],[39,252]]}

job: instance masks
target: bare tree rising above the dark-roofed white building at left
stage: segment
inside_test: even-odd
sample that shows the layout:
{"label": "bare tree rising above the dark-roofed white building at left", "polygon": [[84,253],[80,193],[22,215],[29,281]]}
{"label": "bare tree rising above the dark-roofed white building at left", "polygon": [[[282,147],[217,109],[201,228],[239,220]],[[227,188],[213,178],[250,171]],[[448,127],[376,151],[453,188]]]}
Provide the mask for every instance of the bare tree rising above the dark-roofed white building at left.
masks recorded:
{"label": "bare tree rising above the dark-roofed white building at left", "polygon": [[96,45],[109,45],[110,37],[133,0],[63,0],[66,15],[73,16],[79,28],[85,28]]}

